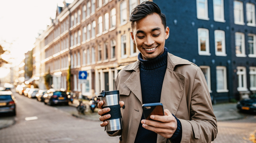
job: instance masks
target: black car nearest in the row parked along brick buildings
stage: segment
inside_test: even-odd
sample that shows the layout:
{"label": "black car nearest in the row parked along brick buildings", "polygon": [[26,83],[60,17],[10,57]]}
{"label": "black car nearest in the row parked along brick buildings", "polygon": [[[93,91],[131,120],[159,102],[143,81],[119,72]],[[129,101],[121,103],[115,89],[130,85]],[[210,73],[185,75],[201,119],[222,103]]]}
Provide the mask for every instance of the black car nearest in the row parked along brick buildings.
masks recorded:
{"label": "black car nearest in the row parked along brick buildings", "polygon": [[50,106],[58,103],[69,104],[68,95],[65,91],[54,91],[48,90],[46,94],[43,95],[44,103]]}

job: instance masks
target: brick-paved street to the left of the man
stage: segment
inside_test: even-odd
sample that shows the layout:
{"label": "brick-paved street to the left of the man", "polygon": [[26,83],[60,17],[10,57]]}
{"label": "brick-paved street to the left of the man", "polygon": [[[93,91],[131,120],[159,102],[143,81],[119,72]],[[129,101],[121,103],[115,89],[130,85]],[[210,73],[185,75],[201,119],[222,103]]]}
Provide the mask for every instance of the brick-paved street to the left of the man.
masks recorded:
{"label": "brick-paved street to the left of the man", "polygon": [[[90,121],[72,116],[69,112],[48,106],[36,99],[30,99],[13,92],[16,103],[16,123],[0,130],[1,143],[49,143],[75,142],[91,143],[118,142],[119,137],[109,137],[100,121]],[[74,107],[60,105],[59,108],[75,110]],[[27,120],[26,120],[27,119]]]}

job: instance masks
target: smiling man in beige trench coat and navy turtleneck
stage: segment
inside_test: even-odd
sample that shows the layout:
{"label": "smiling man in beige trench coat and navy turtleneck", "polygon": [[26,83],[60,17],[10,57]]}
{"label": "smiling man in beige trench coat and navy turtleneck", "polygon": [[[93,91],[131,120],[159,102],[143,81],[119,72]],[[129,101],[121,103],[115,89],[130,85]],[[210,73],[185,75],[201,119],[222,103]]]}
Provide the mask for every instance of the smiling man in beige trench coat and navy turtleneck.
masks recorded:
{"label": "smiling man in beige trench coat and navy turtleneck", "polygon": [[[217,135],[209,90],[201,69],[168,53],[164,47],[169,37],[165,15],[153,2],[145,1],[131,13],[131,37],[139,50],[138,59],[124,67],[115,80],[120,92],[123,129],[120,142],[211,142]],[[145,120],[141,105],[162,103],[164,116],[151,115]],[[98,114],[107,125],[110,108]]]}

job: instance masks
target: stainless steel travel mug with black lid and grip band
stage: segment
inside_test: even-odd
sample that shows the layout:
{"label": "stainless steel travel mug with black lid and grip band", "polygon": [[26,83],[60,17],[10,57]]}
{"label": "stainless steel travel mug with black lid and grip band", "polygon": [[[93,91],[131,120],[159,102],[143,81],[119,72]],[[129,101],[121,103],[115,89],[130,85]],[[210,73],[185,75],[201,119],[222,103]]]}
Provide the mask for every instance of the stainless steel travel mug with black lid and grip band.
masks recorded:
{"label": "stainless steel travel mug with black lid and grip band", "polygon": [[103,114],[110,114],[111,117],[107,119],[108,122],[106,131],[117,131],[122,129],[122,120],[121,120],[121,109],[119,104],[119,90],[114,91],[105,91],[102,90],[98,96],[100,101],[103,101],[102,108],[109,107],[110,111]]}

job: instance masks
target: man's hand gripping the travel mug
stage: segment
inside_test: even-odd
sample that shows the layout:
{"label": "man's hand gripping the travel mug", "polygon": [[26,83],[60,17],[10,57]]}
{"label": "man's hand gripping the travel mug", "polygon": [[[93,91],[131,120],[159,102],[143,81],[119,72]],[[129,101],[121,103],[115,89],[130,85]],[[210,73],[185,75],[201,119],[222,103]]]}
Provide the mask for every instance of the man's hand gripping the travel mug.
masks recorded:
{"label": "man's hand gripping the travel mug", "polygon": [[[102,109],[102,105],[103,105],[103,101],[100,101],[100,102],[98,103],[98,108],[100,108],[100,110],[98,111],[98,114],[100,115],[99,120],[100,120],[100,121],[103,121],[102,123],[100,123],[100,126],[101,126],[101,127],[105,127],[105,126],[108,124],[108,122],[105,121],[105,120],[106,120],[106,119],[109,119],[109,118],[111,117],[111,115],[110,115],[110,114],[107,114],[107,115],[102,116],[102,114],[105,114],[105,113],[107,113],[107,112],[110,111],[110,108],[109,108],[109,107]],[[124,102],[123,102],[123,101],[120,101],[120,107],[121,107],[121,108],[123,107],[123,105],[124,105]]]}

